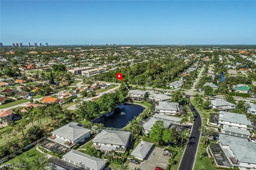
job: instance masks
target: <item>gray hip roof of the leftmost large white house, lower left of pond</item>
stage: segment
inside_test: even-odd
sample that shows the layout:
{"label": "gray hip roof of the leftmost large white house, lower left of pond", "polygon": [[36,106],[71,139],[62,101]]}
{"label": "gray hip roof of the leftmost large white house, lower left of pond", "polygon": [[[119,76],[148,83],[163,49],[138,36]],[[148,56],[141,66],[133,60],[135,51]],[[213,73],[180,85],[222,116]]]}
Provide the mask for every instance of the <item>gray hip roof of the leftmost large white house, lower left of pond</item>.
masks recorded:
{"label": "gray hip roof of the leftmost large white house, lower left of pond", "polygon": [[59,129],[56,129],[55,131],[52,131],[51,133],[60,137],[64,137],[65,139],[68,139],[70,141],[75,141],[76,139],[85,135],[88,132],[90,132],[89,129],[81,127],[76,122],[71,122],[67,125],[60,127]]}

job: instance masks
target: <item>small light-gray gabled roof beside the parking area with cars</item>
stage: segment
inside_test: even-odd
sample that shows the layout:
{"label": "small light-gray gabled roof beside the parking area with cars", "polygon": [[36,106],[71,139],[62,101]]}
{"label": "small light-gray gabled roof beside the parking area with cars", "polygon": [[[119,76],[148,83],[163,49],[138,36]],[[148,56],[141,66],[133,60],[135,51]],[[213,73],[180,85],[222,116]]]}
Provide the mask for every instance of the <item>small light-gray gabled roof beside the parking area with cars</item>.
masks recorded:
{"label": "small light-gray gabled roof beside the parking area with cars", "polygon": [[146,141],[140,141],[131,155],[144,159],[154,144]]}

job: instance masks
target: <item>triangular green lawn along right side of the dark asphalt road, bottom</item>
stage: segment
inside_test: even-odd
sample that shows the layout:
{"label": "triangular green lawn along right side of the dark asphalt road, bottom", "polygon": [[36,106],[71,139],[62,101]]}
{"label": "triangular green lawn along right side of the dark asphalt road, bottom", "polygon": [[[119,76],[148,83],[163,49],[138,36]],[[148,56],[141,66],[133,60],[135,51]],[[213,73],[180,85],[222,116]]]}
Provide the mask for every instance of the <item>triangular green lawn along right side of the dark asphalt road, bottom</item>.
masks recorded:
{"label": "triangular green lawn along right side of the dark asphalt road, bottom", "polygon": [[[211,143],[216,143],[216,141],[211,141]],[[202,149],[202,154],[201,154],[202,160],[200,160],[200,152],[201,152],[200,150],[201,149]],[[213,167],[210,158],[208,157],[206,148],[203,147],[202,139],[201,139],[199,147],[198,147],[194,170],[216,170],[216,168]]]}

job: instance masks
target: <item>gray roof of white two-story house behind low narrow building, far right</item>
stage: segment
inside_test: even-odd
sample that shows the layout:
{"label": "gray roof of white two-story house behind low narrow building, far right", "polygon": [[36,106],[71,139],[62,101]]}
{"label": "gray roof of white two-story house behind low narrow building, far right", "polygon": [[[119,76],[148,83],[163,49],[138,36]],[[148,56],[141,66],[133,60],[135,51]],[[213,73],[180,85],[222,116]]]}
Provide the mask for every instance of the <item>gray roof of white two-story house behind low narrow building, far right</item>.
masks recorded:
{"label": "gray roof of white two-story house behind low narrow building, far right", "polygon": [[232,122],[232,123],[249,125],[246,115],[238,114],[238,113],[231,113],[228,111],[219,111],[219,113],[220,113],[219,114],[219,122],[222,120],[222,121],[228,121],[228,122]]}

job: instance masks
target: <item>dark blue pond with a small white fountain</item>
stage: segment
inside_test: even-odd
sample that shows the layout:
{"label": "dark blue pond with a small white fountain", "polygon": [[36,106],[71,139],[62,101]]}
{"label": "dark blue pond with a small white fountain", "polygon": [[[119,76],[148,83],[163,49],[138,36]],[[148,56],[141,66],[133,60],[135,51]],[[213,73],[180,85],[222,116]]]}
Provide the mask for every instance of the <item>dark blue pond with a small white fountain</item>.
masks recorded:
{"label": "dark blue pond with a small white fountain", "polygon": [[135,104],[121,104],[119,109],[114,109],[102,117],[96,119],[94,123],[103,123],[105,127],[123,128],[134,116],[138,116],[145,109]]}

